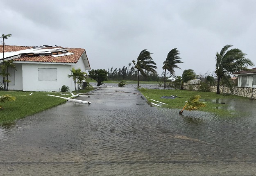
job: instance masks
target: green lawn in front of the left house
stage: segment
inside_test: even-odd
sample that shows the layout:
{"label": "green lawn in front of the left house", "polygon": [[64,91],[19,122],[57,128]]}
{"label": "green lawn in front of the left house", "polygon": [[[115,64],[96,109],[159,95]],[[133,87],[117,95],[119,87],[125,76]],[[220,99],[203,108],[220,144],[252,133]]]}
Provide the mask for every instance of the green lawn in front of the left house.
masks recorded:
{"label": "green lawn in front of the left house", "polygon": [[[91,90],[81,90],[81,92],[85,93]],[[29,96],[29,94],[33,93]],[[52,108],[59,104],[63,104],[66,102],[65,99],[61,99],[58,97],[50,97],[50,95],[62,96],[62,97],[70,97],[71,95],[61,95],[59,92],[18,92],[18,91],[0,91],[1,95],[11,95],[16,97],[16,101],[0,103],[0,106],[4,108],[4,110],[0,110],[0,124],[5,124],[9,122],[13,122],[14,120],[24,118],[28,115],[33,115],[40,111],[44,111],[48,108]],[[68,93],[67,93],[68,94]]]}

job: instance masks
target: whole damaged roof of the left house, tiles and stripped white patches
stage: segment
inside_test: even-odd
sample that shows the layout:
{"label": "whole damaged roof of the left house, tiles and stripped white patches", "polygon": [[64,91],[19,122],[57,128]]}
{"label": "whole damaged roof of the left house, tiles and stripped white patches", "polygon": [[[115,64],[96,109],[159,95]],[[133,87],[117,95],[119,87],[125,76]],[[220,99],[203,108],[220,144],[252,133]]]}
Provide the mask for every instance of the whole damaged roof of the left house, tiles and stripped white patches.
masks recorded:
{"label": "whole damaged roof of the left house, tiles and stripped white patches", "polygon": [[[0,45],[0,61],[3,60],[2,49],[2,45]],[[83,53],[86,55],[83,48],[63,48],[47,45],[40,47],[5,45],[4,47],[5,59],[13,59],[14,61],[77,63]],[[88,60],[87,55],[86,59]]]}

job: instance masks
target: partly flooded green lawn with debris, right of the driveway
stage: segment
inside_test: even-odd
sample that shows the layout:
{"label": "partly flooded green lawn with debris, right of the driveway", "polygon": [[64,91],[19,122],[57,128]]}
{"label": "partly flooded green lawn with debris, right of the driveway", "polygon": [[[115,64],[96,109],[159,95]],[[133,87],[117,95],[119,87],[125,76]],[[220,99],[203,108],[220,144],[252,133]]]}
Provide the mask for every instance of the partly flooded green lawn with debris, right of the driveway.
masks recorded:
{"label": "partly flooded green lawn with debris, right of the driveway", "polygon": [[[248,99],[246,97],[240,97],[236,95],[227,95],[223,96],[222,94],[217,95],[216,93],[212,92],[200,92],[200,91],[190,91],[190,90],[159,90],[159,89],[139,89],[140,92],[149,98],[147,98],[148,102],[153,102],[158,104],[157,102],[152,101],[151,99],[154,99],[159,102],[163,102],[168,105],[162,105],[163,108],[177,108],[182,109],[184,105],[186,104],[186,100],[188,100],[193,95],[200,95],[202,102],[206,102],[206,107],[200,108],[200,111],[215,113],[216,115],[220,117],[233,117],[238,115],[239,112],[226,110],[224,107],[227,106],[227,104],[213,104],[212,100],[216,99]],[[145,90],[143,92],[143,90]],[[162,96],[171,96],[171,95],[177,95],[181,98],[175,98],[175,99],[163,99],[160,98]]]}

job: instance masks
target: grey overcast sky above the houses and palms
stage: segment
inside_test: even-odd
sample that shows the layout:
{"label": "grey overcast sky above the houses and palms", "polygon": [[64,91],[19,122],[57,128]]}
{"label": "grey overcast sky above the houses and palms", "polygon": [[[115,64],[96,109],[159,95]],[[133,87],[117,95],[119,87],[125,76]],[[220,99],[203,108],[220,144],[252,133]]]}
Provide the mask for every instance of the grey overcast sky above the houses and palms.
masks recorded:
{"label": "grey overcast sky above the houses and palms", "polygon": [[86,50],[92,69],[122,68],[147,49],[163,72],[180,51],[181,75],[214,72],[215,53],[230,44],[256,64],[256,0],[0,0],[6,45]]}

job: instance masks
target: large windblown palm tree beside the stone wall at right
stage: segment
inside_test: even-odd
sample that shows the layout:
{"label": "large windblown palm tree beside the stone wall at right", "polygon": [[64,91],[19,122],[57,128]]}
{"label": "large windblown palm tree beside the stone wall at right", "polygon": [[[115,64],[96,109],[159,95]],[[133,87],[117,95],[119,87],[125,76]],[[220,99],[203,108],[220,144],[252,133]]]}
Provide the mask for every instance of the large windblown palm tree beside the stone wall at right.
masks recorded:
{"label": "large windblown palm tree beside the stone wall at right", "polygon": [[215,74],[217,75],[217,94],[220,94],[220,79],[226,81],[230,90],[233,91],[227,75],[233,72],[240,72],[241,70],[248,70],[248,65],[254,66],[251,60],[245,58],[245,53],[238,48],[228,50],[230,47],[232,45],[226,45],[220,53],[216,53]]}

